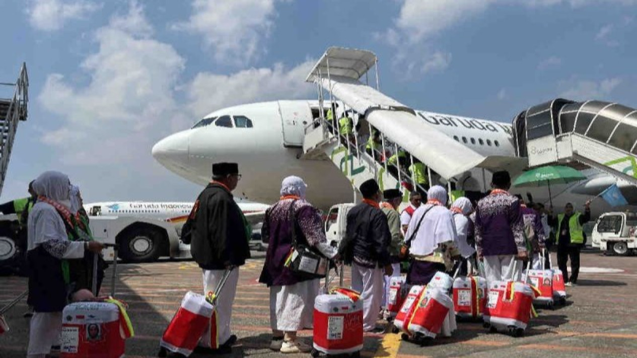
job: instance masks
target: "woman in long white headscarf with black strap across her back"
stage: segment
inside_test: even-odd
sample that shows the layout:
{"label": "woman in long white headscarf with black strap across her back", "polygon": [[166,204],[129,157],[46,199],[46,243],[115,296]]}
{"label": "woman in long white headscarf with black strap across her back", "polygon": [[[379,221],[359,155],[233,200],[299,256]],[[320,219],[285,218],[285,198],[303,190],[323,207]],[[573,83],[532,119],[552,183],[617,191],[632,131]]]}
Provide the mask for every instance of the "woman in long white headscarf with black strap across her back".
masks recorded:
{"label": "woman in long white headscarf with black strap across her back", "polygon": [[459,255],[454,216],[445,204],[447,190],[434,185],[427,190],[427,204],[413,213],[405,235],[412,259],[407,273],[410,285],[427,285],[436,272],[452,269],[452,257]]}

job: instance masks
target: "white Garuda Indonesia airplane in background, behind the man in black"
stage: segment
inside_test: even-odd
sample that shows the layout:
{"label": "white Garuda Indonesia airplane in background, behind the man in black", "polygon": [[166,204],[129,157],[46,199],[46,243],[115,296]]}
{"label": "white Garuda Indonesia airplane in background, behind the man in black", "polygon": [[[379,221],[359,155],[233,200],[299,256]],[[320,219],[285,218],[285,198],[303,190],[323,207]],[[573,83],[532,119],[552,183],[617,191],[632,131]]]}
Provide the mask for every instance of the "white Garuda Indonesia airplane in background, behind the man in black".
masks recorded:
{"label": "white Garuda Indonesia airplane in background, behind the man in black", "polygon": [[[118,216],[157,218],[173,224],[183,224],[194,203],[151,203],[147,201],[109,201],[89,203],[84,210],[90,216]],[[237,203],[250,222],[261,222],[268,205],[259,203]]]}

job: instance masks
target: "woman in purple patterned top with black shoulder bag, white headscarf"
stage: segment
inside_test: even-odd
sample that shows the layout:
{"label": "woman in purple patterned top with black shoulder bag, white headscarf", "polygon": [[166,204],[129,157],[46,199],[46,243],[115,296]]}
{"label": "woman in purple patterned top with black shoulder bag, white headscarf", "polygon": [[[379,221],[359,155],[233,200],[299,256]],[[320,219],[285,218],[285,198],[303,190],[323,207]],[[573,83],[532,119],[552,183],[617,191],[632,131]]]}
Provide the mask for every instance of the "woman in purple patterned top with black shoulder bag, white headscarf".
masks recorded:
{"label": "woman in purple patterned top with black shoulder bag, white headscarf", "polygon": [[307,185],[297,176],[283,179],[281,199],[268,208],[261,229],[268,240],[268,253],[259,282],[270,288],[270,348],[282,353],[309,352],[309,345],[297,340],[296,332],[311,327],[318,279],[299,277],[285,261],[292,249],[292,229],[297,242],[306,243],[332,259],[336,248],[327,243],[320,213],[305,200]]}

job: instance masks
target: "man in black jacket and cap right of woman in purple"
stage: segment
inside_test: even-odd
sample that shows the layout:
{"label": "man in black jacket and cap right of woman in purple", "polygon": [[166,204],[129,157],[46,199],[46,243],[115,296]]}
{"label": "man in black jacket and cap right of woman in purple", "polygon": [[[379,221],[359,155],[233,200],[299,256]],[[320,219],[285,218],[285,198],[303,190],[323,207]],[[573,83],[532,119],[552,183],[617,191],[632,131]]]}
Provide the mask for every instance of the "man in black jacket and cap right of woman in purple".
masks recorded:
{"label": "man in black jacket and cap right of woman in purple", "polygon": [[380,210],[382,194],[376,180],[362,183],[359,190],[363,200],[347,213],[347,234],[339,254],[345,264],[352,265],[352,289],[361,292],[364,331],[380,332],[376,319],[383,299],[383,273],[393,273],[389,255],[392,235]]}

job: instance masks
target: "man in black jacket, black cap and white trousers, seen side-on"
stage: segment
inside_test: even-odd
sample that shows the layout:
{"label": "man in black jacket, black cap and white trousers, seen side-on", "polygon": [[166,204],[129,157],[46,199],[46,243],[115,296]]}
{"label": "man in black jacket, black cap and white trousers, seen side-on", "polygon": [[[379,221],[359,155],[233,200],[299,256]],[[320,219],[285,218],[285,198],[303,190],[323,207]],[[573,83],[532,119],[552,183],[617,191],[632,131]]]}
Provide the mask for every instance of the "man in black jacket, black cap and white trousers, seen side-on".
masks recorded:
{"label": "man in black jacket, black cap and white trousers, seen side-on", "polygon": [[203,349],[199,347],[197,352],[228,353],[237,339],[230,333],[234,294],[239,280],[236,268],[250,257],[250,248],[243,213],[232,194],[241,180],[238,164],[213,164],[212,179],[197,197],[189,217],[192,221],[190,253],[203,269],[206,297],[212,296],[226,269],[235,269],[217,299],[217,327],[208,329],[199,341]]}

